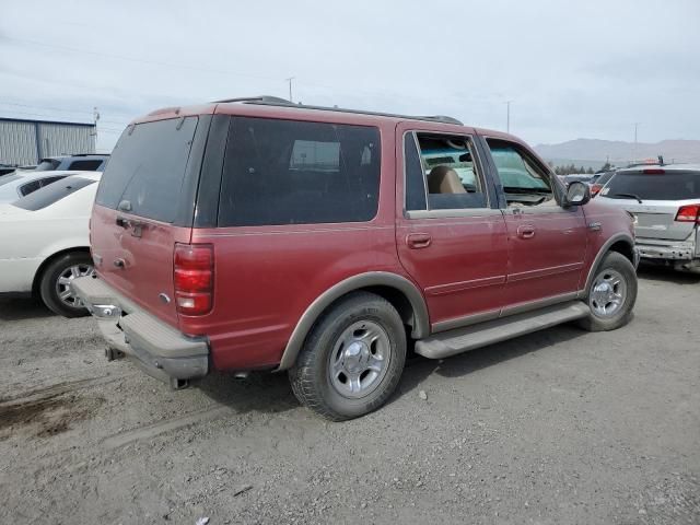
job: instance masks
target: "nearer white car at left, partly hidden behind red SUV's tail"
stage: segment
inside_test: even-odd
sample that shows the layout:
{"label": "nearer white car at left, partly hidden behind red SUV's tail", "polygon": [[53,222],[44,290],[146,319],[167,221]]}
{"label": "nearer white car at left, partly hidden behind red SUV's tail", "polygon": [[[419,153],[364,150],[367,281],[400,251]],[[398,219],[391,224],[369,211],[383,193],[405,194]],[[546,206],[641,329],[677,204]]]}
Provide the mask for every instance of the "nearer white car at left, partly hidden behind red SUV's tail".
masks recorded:
{"label": "nearer white car at left, partly hidden behind red SUV's tail", "polygon": [[66,317],[88,312],[70,282],[93,272],[89,221],[101,173],[81,172],[0,205],[0,295],[35,295]]}

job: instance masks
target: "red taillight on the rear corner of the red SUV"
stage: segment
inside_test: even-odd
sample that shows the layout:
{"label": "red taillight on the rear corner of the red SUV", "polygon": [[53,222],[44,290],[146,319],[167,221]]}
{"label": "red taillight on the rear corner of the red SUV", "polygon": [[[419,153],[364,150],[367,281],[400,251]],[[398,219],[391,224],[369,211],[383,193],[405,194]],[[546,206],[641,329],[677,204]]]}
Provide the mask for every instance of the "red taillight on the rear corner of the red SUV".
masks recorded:
{"label": "red taillight on the rear corner of the red SUV", "polygon": [[175,245],[175,305],[185,315],[211,311],[214,291],[214,248],[211,244]]}

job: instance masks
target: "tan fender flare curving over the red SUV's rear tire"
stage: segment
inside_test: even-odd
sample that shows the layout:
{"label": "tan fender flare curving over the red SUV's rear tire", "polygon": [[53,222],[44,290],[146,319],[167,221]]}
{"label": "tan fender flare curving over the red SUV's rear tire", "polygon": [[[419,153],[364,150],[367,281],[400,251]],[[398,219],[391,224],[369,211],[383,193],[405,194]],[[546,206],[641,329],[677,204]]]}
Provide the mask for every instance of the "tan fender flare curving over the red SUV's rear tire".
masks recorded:
{"label": "tan fender flare curving over the red SUV's rear tire", "polygon": [[282,354],[282,359],[277,370],[288,370],[296,362],[296,357],[306,340],[306,336],[314,326],[314,323],[316,323],[316,319],[318,319],[330,304],[342,295],[369,287],[388,287],[401,292],[406,299],[408,299],[411,304],[411,308],[413,310],[413,327],[411,336],[419,339],[427,337],[430,334],[430,318],[428,316],[425,300],[411,281],[397,273],[387,271],[360,273],[334,284],[317,296],[311,305],[308,305],[296,323],[294,331],[292,331],[292,335],[287,342],[287,348],[284,349],[284,353]]}

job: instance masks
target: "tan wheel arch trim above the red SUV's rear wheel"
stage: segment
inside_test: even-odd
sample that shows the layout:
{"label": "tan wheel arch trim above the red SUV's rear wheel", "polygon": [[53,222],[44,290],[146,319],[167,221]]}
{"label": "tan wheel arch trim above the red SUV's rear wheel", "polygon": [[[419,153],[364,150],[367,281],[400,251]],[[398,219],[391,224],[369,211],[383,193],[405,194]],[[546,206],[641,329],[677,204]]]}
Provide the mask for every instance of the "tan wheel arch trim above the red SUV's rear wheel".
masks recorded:
{"label": "tan wheel arch trim above the red SUV's rear wheel", "polygon": [[287,370],[296,362],[308,332],[328,307],[339,299],[358,291],[375,293],[392,303],[404,323],[411,327],[411,337],[420,339],[430,334],[425,300],[411,281],[384,271],[361,273],[338,282],[314,300],[296,323],[277,370]]}

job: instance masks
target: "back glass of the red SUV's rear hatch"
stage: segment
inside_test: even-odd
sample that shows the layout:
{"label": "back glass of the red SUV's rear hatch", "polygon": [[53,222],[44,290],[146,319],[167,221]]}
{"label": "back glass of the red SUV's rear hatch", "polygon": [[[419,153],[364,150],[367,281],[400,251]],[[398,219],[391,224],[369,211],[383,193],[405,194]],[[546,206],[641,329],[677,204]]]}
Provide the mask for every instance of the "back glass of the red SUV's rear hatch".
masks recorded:
{"label": "back glass of the red SUV's rear hatch", "polygon": [[197,120],[175,118],[128,128],[112,153],[95,201],[117,209],[126,200],[136,215],[173,222]]}

